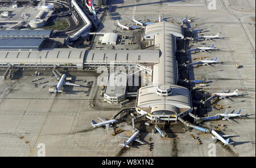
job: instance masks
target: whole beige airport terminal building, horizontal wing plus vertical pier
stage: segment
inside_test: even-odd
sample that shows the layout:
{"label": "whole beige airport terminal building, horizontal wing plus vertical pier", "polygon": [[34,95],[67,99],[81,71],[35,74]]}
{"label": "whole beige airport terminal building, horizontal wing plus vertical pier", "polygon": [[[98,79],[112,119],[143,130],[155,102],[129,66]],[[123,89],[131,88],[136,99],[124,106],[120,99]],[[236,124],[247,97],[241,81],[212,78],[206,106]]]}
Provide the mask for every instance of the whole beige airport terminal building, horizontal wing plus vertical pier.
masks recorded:
{"label": "whole beige airport terminal building, horizontal wing plus vertical pier", "polygon": [[[39,31],[40,32],[40,31]],[[24,33],[24,32],[23,32]],[[29,35],[29,38],[17,38],[15,45],[8,33],[2,33],[0,39],[0,67],[30,68],[97,68],[101,66],[129,66],[146,70],[152,76],[152,84],[138,90],[136,110],[146,114],[151,120],[177,120],[192,111],[191,91],[177,85],[178,70],[176,39],[182,39],[181,26],[160,22],[147,25],[145,38],[154,39],[154,50],[86,50],[86,49],[47,49],[42,48],[51,31],[41,32],[41,37]],[[35,31],[32,33],[36,33]],[[20,36],[12,32],[12,36]],[[24,35],[25,36],[25,35]],[[32,38],[34,37],[34,38]],[[15,38],[14,38],[15,39]],[[33,42],[34,41],[34,42]],[[107,40],[107,41],[115,41]],[[153,68],[151,68],[153,67]],[[112,74],[109,77],[126,74]],[[110,104],[119,104],[126,99],[126,86],[106,85],[104,100]]]}

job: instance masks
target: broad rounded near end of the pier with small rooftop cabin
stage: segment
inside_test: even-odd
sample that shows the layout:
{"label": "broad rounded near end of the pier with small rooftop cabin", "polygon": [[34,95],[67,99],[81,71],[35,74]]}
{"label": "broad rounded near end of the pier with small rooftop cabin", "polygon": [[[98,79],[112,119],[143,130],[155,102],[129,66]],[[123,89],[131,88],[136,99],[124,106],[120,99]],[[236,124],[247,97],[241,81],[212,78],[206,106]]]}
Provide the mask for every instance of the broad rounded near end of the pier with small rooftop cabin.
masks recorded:
{"label": "broad rounded near end of the pier with small rooftop cabin", "polygon": [[[161,87],[170,89],[168,96],[156,94]],[[191,109],[191,105],[190,91],[178,85],[150,85],[139,89],[137,107],[140,111],[151,114],[152,120],[164,120],[164,115],[171,115],[168,120],[176,120],[177,116],[185,115],[187,110]]]}

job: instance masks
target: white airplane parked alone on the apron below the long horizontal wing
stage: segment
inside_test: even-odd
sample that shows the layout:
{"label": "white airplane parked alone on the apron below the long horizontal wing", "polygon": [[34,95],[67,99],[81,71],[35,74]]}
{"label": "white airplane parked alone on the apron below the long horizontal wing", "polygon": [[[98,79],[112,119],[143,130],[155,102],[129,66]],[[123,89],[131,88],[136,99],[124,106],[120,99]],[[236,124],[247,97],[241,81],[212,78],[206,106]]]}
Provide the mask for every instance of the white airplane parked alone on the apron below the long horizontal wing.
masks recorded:
{"label": "white airplane parked alone on the apron below the long horizontal wing", "polygon": [[75,87],[80,87],[81,85],[78,84],[74,84],[74,83],[70,83],[65,81],[66,75],[63,74],[61,77],[60,75],[57,75],[56,72],[53,70],[52,71],[53,74],[55,75],[56,79],[59,80],[58,82],[55,81],[53,83],[47,83],[47,84],[43,84],[43,85],[56,85],[55,89],[49,89],[50,93],[57,93],[57,92],[63,92],[60,89],[64,86],[64,85],[71,85],[71,86],[75,86]]}

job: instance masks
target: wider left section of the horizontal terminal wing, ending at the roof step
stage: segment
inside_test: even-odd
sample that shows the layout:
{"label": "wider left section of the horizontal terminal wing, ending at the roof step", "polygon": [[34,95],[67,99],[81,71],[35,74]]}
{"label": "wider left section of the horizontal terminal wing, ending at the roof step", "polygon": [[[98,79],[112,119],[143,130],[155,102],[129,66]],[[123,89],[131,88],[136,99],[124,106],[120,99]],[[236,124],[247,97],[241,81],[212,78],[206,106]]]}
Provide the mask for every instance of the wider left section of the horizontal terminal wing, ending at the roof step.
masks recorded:
{"label": "wider left section of the horizontal terminal wing, ending at the roof step", "polygon": [[16,67],[76,67],[82,68],[84,49],[52,49],[42,51],[1,51],[0,66]]}

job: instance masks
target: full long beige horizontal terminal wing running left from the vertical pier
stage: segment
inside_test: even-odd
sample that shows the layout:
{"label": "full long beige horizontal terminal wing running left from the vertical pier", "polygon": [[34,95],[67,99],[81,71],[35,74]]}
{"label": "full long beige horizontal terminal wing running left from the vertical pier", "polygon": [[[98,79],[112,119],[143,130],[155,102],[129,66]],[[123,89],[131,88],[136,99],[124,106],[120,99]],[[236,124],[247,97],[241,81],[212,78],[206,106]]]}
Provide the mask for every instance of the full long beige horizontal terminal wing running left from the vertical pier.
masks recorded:
{"label": "full long beige horizontal terminal wing running left from the vertical pier", "polygon": [[[20,40],[26,40],[20,38]],[[32,39],[32,38],[30,38]],[[37,38],[35,38],[37,39]],[[2,39],[3,40],[3,39]],[[27,39],[28,40],[28,39]],[[44,39],[38,39],[44,40]],[[16,39],[16,41],[18,41]],[[14,46],[15,47],[15,46]],[[37,48],[36,48],[37,49]],[[85,50],[85,49],[42,49],[22,51],[15,48],[13,50],[0,50],[2,59],[0,67],[6,67],[6,63],[14,63],[15,66],[34,67],[39,57],[42,57],[43,67],[53,67],[57,64],[61,67],[94,67],[105,66],[106,64],[130,65],[137,63],[158,63],[159,51],[150,50]],[[20,57],[23,55],[23,57]],[[44,58],[44,62],[43,62]],[[69,66],[67,66],[69,65]]]}

